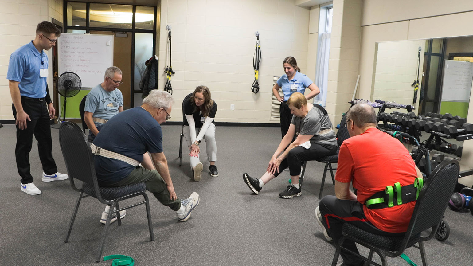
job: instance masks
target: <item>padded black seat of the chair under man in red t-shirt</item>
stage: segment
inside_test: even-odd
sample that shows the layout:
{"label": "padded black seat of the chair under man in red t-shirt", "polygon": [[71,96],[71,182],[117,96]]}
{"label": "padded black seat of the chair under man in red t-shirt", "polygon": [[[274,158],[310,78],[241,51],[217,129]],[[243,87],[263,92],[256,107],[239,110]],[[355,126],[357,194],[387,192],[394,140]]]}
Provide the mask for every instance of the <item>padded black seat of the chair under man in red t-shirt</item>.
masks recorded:
{"label": "padded black seat of the chair under man in red t-shirt", "polygon": [[[399,250],[404,240],[404,235],[398,237],[377,235],[368,231],[364,231],[363,229],[356,227],[351,223],[343,224],[342,231],[351,237],[360,239],[377,248],[391,251]],[[409,241],[407,242],[406,248],[412,247],[415,243],[419,241],[419,239],[420,234],[412,236],[411,239],[409,239]]]}

